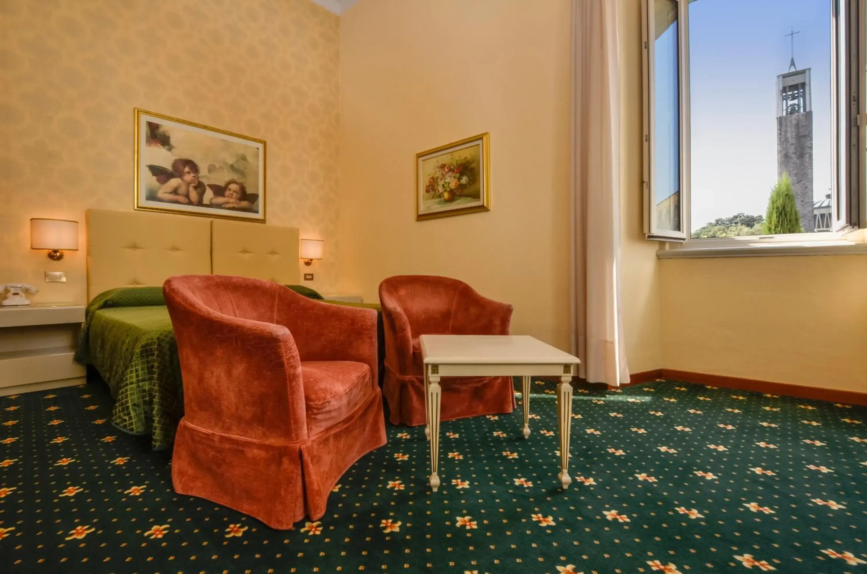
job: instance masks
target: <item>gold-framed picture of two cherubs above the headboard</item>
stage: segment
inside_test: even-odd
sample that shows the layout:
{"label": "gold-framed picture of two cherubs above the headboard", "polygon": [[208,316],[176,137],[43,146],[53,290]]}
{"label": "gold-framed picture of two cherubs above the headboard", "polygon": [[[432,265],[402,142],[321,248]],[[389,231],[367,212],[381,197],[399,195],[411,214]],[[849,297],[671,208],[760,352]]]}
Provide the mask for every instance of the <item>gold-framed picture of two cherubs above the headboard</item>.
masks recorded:
{"label": "gold-framed picture of two cherubs above the headboard", "polygon": [[135,110],[135,209],[265,221],[265,142]]}

